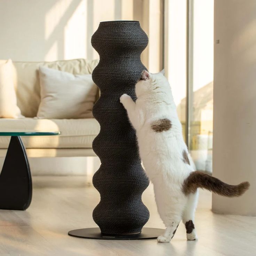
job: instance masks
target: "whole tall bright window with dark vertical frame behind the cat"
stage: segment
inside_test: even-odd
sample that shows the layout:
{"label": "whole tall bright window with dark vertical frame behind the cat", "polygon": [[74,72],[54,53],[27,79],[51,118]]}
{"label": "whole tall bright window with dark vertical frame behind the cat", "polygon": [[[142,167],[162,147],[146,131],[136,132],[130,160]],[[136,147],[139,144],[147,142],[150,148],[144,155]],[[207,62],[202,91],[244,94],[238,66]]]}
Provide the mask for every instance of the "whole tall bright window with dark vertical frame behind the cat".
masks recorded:
{"label": "whole tall bright window with dark vertical frame behind the cat", "polygon": [[212,171],[214,0],[165,1],[165,66],[198,170]]}

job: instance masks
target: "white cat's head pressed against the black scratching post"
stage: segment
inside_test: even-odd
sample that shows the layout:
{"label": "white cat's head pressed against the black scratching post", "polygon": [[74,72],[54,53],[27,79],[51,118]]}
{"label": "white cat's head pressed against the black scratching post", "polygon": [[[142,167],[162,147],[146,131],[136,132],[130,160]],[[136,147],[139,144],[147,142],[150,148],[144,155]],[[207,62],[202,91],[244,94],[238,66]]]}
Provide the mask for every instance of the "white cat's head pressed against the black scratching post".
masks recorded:
{"label": "white cat's head pressed against the black scratching post", "polygon": [[141,78],[135,86],[137,98],[147,95],[154,95],[154,98],[168,98],[173,100],[171,88],[167,78],[164,76],[164,70],[159,73],[149,73],[143,70]]}

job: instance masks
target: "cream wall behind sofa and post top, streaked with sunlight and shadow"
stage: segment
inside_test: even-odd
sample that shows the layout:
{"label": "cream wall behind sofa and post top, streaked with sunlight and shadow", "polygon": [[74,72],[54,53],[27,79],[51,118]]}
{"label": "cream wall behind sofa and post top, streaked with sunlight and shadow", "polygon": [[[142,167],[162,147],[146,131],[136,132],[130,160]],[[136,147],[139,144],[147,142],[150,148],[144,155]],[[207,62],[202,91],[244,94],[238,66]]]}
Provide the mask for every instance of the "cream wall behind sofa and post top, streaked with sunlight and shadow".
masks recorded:
{"label": "cream wall behind sofa and post top, streaked with sunlight and shadow", "polygon": [[[160,63],[162,0],[0,0],[0,59],[98,58],[91,36],[101,21],[139,20],[150,44],[144,65]],[[150,65],[150,66],[149,66]],[[161,65],[161,66],[160,66]]]}

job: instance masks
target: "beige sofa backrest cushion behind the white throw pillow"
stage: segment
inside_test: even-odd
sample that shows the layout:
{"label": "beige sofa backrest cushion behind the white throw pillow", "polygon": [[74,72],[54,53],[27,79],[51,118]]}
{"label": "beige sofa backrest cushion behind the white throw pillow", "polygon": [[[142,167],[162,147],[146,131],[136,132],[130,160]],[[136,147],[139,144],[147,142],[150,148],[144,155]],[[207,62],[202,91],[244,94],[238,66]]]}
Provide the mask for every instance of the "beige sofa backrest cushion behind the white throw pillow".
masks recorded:
{"label": "beige sofa backrest cushion behind the white throw pillow", "polygon": [[36,117],[40,104],[39,66],[46,66],[74,75],[91,74],[98,60],[72,59],[54,62],[13,62],[17,105],[25,117]]}

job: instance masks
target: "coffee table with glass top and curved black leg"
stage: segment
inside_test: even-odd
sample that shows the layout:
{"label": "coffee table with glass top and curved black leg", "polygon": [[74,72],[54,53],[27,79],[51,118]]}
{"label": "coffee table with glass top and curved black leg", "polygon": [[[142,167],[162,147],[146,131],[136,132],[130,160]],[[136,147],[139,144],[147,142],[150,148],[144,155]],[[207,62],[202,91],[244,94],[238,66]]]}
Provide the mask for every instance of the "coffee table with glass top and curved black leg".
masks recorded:
{"label": "coffee table with glass top and curved black leg", "polygon": [[32,179],[26,150],[20,136],[60,135],[60,131],[1,131],[11,136],[0,174],[0,209],[26,210],[32,200]]}

